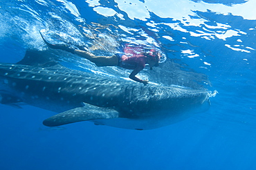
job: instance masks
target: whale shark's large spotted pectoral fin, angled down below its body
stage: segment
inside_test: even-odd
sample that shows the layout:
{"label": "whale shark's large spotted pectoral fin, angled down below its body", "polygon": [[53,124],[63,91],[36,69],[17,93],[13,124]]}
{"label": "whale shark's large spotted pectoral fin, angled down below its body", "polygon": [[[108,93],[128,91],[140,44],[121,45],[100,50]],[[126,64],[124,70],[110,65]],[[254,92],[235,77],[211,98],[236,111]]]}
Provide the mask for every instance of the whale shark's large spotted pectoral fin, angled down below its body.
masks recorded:
{"label": "whale shark's large spotted pectoral fin, angled down below its body", "polygon": [[84,107],[73,108],[60,114],[53,115],[44,120],[43,124],[45,126],[60,126],[86,120],[112,119],[117,118],[118,115],[118,111],[114,109],[85,104]]}

